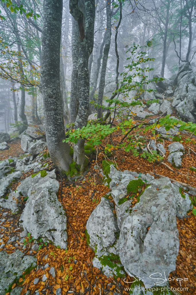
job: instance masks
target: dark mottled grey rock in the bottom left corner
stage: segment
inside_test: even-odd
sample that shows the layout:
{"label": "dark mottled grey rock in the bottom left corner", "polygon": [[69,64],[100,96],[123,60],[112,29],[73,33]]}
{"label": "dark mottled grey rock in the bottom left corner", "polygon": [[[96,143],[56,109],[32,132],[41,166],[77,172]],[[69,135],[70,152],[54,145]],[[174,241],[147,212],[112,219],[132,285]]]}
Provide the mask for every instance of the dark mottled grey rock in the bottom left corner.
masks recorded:
{"label": "dark mottled grey rock in the bottom left corner", "polygon": [[22,273],[27,268],[36,267],[37,265],[36,258],[29,255],[24,256],[24,253],[19,250],[11,254],[1,251],[0,261],[0,294],[2,295],[5,294],[5,289],[11,285],[15,279],[22,276]]}

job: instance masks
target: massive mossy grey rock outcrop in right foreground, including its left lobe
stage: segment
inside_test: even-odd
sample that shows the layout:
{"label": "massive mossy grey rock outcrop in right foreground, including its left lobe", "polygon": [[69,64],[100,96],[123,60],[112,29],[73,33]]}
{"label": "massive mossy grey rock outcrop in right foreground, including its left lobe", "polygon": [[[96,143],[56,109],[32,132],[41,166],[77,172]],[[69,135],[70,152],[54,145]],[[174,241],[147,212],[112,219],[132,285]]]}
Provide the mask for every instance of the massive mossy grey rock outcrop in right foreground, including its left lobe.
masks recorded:
{"label": "massive mossy grey rock outcrop in right foreground, including its left lobe", "polygon": [[[188,194],[181,194],[179,184],[171,183],[167,177],[154,179],[149,174],[120,172],[113,165],[108,177],[116,217],[112,199],[106,196],[88,219],[87,240],[97,251],[93,266],[102,268],[107,276],[115,272],[119,275],[119,271],[122,275],[123,266],[127,273],[143,278],[145,287],[150,288],[156,283],[150,278],[152,273],[165,272],[167,278],[175,270],[179,250],[176,216],[186,216],[191,201]],[[126,198],[130,191],[132,196],[140,194],[133,208],[133,199]],[[106,263],[113,258],[118,266]]]}

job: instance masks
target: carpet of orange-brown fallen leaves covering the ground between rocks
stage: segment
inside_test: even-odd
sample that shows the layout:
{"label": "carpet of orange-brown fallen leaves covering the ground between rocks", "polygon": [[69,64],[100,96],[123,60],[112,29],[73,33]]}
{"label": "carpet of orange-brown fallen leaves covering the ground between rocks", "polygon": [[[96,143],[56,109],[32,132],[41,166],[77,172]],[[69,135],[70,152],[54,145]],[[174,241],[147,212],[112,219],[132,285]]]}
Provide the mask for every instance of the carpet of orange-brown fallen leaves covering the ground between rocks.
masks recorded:
{"label": "carpet of orange-brown fallen leaves covering the ground between rocks", "polygon": [[[152,117],[150,119],[152,119]],[[146,120],[146,122],[147,121],[148,120]],[[133,134],[134,132],[135,131],[133,131]],[[150,139],[152,136],[150,132],[148,135]],[[121,138],[122,135],[120,131],[116,132],[113,136],[114,144],[115,142],[118,143]],[[107,142],[108,138],[105,138],[102,142],[102,149]],[[164,143],[165,147],[167,147],[172,142],[165,140]],[[192,150],[196,151],[195,143],[186,144],[184,142],[183,145],[186,154],[182,159],[182,168],[175,169],[165,160],[167,165],[170,166],[174,172],[160,163],[149,163],[144,158],[140,158],[139,156],[133,157],[131,152],[125,153],[122,150],[115,151],[115,155],[110,158],[110,161],[117,164],[117,168],[121,171],[137,171],[141,173],[150,173],[154,176],[155,174],[159,174],[196,187],[196,172],[190,171],[190,166],[196,165],[196,154],[189,150],[190,147]],[[9,150],[0,153],[0,160],[8,158],[9,155],[19,156],[21,153],[22,150],[19,143],[12,143]],[[165,159],[168,153],[167,150]],[[30,290],[30,294],[37,291],[39,291],[39,294],[44,295],[56,294],[56,289],[58,288],[61,288],[62,294],[103,295],[113,294],[114,292],[123,295],[128,294],[125,288],[131,286],[133,278],[127,276],[125,281],[130,283],[125,283],[123,278],[107,278],[98,268],[94,268],[92,265],[94,252],[87,245],[85,235],[86,222],[90,214],[99,204],[101,197],[109,191],[109,188],[103,185],[99,171],[94,169],[94,165],[101,167],[102,160],[104,159],[104,152],[99,152],[97,155],[91,156],[88,163],[90,170],[83,181],[72,183],[64,179],[62,180],[61,177],[57,175],[57,179],[60,182],[58,200],[63,204],[67,215],[68,248],[64,250],[50,244],[44,246],[42,242],[39,241],[40,249],[38,251],[33,251],[31,255],[36,256],[39,266],[44,266],[46,263],[49,263],[50,267],[54,267],[56,271],[55,278],[48,272],[50,268],[39,268],[37,271],[34,269],[29,274],[26,274],[24,280],[19,283],[24,286],[21,295],[25,294],[27,290]],[[46,160],[46,162],[49,163],[49,170],[55,168],[50,159]],[[24,174],[21,179],[31,174],[33,174],[33,171]],[[155,176],[155,178],[157,177]],[[16,189],[19,183],[20,181],[14,183],[12,189]],[[137,199],[135,199],[135,204],[136,202]],[[2,209],[0,212],[0,219],[4,212],[8,212],[4,223],[6,230],[3,237],[3,243],[6,244],[9,239],[8,236],[19,236],[19,233],[22,232],[22,228],[19,225],[21,213],[11,214],[10,210]],[[13,220],[8,222],[7,220],[10,217],[12,217]],[[177,219],[177,228],[179,230],[180,249],[176,259],[176,270],[170,273],[171,281],[169,281],[169,284],[171,287],[179,288],[179,282],[176,280],[172,281],[172,278],[188,278],[188,281],[183,281],[181,283],[183,288],[188,288],[188,291],[179,292],[183,295],[196,295],[196,216],[192,214],[192,211],[188,213],[188,218]],[[31,237],[26,238],[26,250],[23,250],[20,246],[17,247],[24,252],[24,255],[30,255],[29,251],[33,245],[33,241],[29,242],[30,238]],[[0,249],[0,251],[7,251],[7,253],[12,253],[15,250],[16,248],[12,244],[6,245],[4,249]],[[47,254],[48,256],[46,257]],[[43,274],[46,274],[48,278],[46,282],[42,282]],[[33,283],[35,278],[39,278],[39,282],[36,285]],[[15,286],[13,286],[13,288]]]}

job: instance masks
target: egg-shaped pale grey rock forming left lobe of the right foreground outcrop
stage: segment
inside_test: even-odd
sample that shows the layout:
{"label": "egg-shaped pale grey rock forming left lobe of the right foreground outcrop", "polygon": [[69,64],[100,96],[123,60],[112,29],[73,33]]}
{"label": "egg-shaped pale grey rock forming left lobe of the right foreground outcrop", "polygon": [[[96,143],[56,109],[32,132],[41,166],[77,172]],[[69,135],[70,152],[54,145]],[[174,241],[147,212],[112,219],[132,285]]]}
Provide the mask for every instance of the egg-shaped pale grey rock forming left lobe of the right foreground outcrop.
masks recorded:
{"label": "egg-shaped pale grey rock forming left lobe of the right foreground outcrop", "polygon": [[97,250],[98,256],[101,256],[102,252],[104,254],[105,249],[114,244],[119,232],[113,210],[113,203],[102,197],[86,223],[86,230],[90,236],[90,247]]}

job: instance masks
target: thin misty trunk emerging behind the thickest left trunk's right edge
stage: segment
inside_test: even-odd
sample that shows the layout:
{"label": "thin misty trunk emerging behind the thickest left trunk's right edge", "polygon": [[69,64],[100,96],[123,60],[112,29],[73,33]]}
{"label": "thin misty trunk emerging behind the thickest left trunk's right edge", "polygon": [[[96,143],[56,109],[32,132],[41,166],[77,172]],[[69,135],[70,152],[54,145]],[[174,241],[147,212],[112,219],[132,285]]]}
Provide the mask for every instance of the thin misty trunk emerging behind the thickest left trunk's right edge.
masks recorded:
{"label": "thin misty trunk emerging behind the thickest left trunk's right edge", "polygon": [[68,124],[70,123],[70,115],[69,115],[69,109],[67,105],[67,94],[66,94],[66,87],[65,87],[65,74],[64,74],[62,53],[60,53],[60,85],[61,85],[61,100],[62,100],[62,106],[63,106],[63,117],[65,119],[65,124]]}

